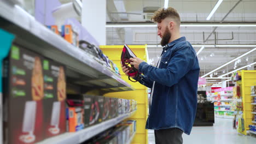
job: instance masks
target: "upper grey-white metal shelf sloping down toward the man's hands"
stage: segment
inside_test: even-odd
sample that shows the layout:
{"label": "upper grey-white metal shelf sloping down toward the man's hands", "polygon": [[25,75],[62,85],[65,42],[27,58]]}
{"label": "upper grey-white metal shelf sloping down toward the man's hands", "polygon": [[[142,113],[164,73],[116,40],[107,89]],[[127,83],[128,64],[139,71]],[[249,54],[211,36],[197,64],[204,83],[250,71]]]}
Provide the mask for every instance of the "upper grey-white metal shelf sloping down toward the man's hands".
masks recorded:
{"label": "upper grey-white metal shelf sloping down toward the man's hands", "polygon": [[[132,91],[131,85],[98,63],[88,53],[69,44],[17,5],[0,1],[0,28],[15,34],[15,43],[66,65],[67,80],[103,92]],[[111,89],[118,88],[118,89]],[[108,89],[106,91],[106,89]]]}

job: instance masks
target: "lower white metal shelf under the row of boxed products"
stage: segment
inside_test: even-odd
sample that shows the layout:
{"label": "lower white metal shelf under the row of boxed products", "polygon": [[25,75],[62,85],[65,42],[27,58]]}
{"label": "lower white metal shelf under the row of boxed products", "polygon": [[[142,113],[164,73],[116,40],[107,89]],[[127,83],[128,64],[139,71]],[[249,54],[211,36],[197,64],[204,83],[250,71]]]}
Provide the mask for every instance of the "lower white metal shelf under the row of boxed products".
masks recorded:
{"label": "lower white metal shelf under the row of boxed products", "polygon": [[114,125],[117,125],[124,119],[131,117],[135,112],[121,115],[117,118],[110,119],[106,122],[102,122],[100,124],[94,125],[89,128],[85,128],[83,130],[80,130],[80,131],[77,131],[74,133],[65,133],[65,134],[61,134],[59,136],[54,136],[49,139],[38,142],[37,144],[81,143],[86,140],[89,140],[91,137],[94,137],[97,134],[100,134],[102,131],[113,127]]}

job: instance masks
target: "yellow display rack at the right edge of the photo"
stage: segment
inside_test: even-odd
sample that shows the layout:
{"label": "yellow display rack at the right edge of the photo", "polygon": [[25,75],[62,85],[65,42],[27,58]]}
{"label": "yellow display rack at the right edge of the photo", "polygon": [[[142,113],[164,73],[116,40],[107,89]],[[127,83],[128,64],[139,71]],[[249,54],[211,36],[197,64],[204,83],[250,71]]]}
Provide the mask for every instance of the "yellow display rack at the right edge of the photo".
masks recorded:
{"label": "yellow display rack at the right edge of the photo", "polygon": [[[249,130],[249,125],[252,123],[252,102],[251,102],[251,86],[255,85],[256,82],[256,70],[241,70],[241,78],[242,80],[237,81],[237,83],[241,87],[241,97],[243,104],[243,120],[245,125],[244,131],[238,131],[243,135],[247,135],[247,131]],[[238,130],[238,129],[237,129]]]}

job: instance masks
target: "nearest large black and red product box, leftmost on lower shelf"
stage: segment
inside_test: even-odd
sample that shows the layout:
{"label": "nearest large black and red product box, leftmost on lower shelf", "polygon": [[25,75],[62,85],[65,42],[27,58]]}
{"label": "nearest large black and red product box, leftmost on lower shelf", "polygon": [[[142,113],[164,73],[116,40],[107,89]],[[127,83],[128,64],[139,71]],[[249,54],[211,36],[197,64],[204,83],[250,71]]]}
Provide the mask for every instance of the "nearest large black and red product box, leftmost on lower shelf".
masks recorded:
{"label": "nearest large black and red product box, leftmost on lower shelf", "polygon": [[43,57],[20,45],[3,61],[4,143],[44,139]]}

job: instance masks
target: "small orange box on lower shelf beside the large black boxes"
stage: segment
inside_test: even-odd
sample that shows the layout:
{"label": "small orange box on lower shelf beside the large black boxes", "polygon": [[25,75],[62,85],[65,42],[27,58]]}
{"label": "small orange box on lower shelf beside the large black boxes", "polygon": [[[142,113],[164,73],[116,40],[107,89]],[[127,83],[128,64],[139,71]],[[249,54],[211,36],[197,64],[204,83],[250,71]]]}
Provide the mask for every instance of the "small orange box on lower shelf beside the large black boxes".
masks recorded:
{"label": "small orange box on lower shelf beside the large black boxes", "polygon": [[68,131],[75,132],[84,129],[84,109],[82,106],[67,107]]}

